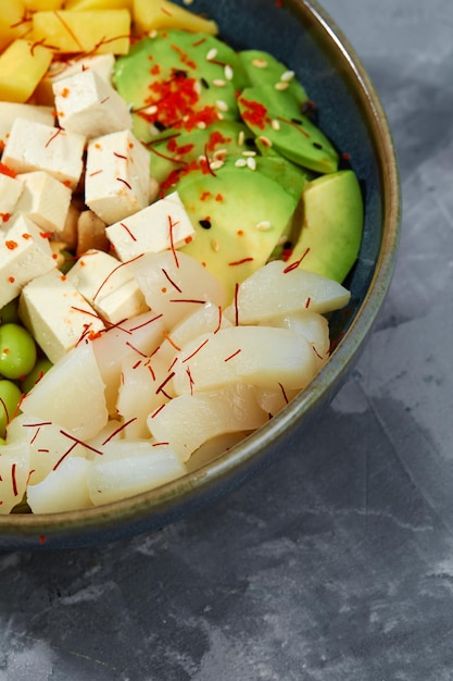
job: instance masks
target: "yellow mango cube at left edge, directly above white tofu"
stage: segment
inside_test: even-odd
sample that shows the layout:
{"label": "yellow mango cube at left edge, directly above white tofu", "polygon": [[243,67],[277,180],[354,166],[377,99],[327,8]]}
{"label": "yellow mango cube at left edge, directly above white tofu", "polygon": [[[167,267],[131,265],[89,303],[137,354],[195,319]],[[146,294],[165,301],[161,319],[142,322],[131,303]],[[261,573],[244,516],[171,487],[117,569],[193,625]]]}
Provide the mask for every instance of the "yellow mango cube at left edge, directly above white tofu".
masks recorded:
{"label": "yellow mango cube at left edge, directly above white tofu", "polygon": [[51,50],[29,40],[14,40],[0,54],[0,100],[26,102],[51,60]]}

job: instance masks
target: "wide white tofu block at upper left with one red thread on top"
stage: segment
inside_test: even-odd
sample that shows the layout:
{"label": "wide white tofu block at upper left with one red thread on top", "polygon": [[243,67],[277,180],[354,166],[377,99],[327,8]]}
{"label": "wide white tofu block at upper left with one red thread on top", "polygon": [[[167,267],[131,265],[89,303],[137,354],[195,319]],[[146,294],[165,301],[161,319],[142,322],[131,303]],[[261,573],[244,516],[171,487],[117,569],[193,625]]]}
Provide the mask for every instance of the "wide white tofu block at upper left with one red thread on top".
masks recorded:
{"label": "wide white tofu block at upper left with one red thread on top", "polygon": [[11,128],[2,162],[16,173],[46,171],[75,189],[84,168],[84,135],[16,119]]}

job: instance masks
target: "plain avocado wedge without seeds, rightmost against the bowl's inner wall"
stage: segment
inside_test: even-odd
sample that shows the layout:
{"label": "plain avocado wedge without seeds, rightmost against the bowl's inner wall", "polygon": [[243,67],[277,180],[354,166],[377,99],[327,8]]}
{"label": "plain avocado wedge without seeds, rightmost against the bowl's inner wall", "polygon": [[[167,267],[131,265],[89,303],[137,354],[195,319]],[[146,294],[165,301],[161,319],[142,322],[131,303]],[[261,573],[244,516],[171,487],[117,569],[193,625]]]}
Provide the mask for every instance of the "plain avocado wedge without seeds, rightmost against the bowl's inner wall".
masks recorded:
{"label": "plain avocado wedge without seeds, rightmost against the bowl's inner wall", "polygon": [[342,282],[354,264],[362,240],[363,199],[351,170],[323,175],[302,191],[303,223],[291,262]]}

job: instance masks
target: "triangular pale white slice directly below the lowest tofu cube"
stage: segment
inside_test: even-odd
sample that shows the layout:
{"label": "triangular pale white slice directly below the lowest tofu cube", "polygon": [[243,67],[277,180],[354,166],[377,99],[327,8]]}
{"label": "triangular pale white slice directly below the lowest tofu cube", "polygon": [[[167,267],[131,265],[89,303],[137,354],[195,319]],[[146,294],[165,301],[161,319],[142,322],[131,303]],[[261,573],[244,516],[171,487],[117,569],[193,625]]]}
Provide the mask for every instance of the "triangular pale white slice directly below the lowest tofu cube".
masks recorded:
{"label": "triangular pale white slice directly below the lowest tofu cube", "polygon": [[49,369],[26,395],[21,409],[86,439],[108,421],[104,388],[92,343],[81,343]]}

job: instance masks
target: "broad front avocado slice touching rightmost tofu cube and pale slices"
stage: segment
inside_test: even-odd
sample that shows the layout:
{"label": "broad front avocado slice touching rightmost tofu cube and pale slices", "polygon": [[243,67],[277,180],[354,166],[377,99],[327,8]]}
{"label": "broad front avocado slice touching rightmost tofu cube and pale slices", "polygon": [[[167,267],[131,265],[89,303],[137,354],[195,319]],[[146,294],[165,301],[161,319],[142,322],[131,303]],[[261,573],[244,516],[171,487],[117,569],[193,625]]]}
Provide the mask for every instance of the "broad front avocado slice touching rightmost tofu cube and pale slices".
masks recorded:
{"label": "broad front avocado slice touching rightmost tofu cube and pale slices", "polygon": [[234,164],[215,176],[186,175],[177,191],[196,230],[181,250],[217,275],[230,298],[236,284],[268,260],[298,205],[270,177]]}

